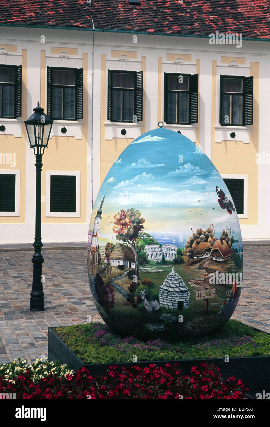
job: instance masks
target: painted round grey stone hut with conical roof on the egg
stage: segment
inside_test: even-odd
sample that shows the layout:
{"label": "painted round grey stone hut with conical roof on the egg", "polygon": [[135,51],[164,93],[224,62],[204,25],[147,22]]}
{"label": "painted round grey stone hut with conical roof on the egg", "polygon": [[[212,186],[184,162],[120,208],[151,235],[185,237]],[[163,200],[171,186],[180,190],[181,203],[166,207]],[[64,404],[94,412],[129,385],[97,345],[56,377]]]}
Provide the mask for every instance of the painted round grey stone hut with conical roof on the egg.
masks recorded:
{"label": "painted round grey stone hut with conical roof on the egg", "polygon": [[190,305],[190,291],[173,267],[159,288],[159,303],[171,310],[181,310]]}

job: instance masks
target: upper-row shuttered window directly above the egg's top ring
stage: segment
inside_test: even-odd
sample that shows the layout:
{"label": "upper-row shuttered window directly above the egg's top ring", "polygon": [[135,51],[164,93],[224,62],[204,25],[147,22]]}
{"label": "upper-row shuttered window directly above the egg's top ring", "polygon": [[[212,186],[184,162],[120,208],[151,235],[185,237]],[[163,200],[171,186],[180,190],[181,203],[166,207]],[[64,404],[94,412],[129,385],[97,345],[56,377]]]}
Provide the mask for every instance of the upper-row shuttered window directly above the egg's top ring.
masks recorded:
{"label": "upper-row shuttered window directly above the egg's top ring", "polygon": [[164,122],[198,123],[198,74],[164,73]]}

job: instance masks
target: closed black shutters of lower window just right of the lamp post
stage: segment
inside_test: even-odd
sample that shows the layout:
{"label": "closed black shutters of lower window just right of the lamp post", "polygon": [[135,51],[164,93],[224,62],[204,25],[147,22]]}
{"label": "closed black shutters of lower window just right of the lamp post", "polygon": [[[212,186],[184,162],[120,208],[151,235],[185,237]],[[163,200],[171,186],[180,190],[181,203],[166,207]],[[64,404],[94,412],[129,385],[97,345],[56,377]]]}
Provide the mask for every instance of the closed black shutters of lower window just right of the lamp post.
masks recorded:
{"label": "closed black shutters of lower window just right of the lamp post", "polygon": [[51,175],[50,212],[76,212],[75,175]]}

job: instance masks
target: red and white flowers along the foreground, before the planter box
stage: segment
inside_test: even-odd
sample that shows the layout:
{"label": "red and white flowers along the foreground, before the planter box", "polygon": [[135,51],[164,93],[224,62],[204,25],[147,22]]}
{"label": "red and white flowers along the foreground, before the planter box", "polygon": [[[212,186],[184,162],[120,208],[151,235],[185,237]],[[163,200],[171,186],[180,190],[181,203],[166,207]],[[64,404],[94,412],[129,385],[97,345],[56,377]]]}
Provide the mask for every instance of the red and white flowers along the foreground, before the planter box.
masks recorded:
{"label": "red and white flowers along the foreground, before the planter box", "polygon": [[[0,392],[16,393],[16,399],[247,399],[249,391],[241,380],[223,379],[213,364],[193,366],[190,375],[182,373],[177,363],[164,368],[151,363],[124,366],[119,371],[110,366],[101,375],[89,375],[86,368],[76,373],[66,366],[37,360],[31,366],[10,363],[0,366]],[[49,374],[41,372],[49,369]],[[3,371],[5,374],[3,374]],[[57,373],[54,373],[57,371]],[[41,376],[40,376],[41,374]]]}

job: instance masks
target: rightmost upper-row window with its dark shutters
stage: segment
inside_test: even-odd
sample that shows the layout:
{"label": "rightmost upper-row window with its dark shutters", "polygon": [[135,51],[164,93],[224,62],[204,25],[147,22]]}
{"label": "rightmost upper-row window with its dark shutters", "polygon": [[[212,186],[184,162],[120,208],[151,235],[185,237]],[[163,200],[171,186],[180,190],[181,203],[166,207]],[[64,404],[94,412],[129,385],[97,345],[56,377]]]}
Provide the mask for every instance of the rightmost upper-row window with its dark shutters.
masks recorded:
{"label": "rightmost upper-row window with its dark shutters", "polygon": [[220,76],[221,125],[253,124],[253,76]]}

